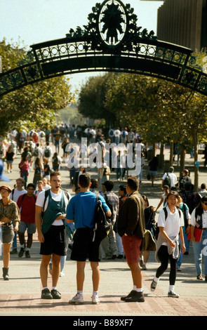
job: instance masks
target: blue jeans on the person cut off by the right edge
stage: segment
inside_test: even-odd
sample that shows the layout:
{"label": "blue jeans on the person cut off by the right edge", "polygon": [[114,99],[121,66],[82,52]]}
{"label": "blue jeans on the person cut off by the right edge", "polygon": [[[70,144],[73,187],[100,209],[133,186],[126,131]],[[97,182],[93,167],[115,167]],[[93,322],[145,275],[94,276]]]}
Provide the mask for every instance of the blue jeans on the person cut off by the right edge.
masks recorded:
{"label": "blue jeans on the person cut off by the right edge", "polygon": [[204,258],[204,270],[207,275],[207,229],[203,230],[201,242],[192,242],[194,249],[194,260],[197,275],[202,274],[202,257]]}

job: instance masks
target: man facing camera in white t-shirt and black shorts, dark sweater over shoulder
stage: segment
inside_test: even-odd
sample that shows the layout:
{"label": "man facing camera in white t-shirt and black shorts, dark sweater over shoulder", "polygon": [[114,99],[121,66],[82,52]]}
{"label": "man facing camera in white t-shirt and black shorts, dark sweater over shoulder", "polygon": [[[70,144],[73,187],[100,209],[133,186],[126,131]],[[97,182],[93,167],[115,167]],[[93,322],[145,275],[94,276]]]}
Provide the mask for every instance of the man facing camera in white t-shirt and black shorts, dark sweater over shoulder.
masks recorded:
{"label": "man facing camera in white t-shirt and black shorts, dark sweater over shoulder", "polygon": [[[47,194],[47,196],[46,196]],[[68,197],[68,198],[67,198]],[[66,256],[65,216],[70,195],[61,189],[60,172],[51,172],[51,189],[41,192],[36,199],[35,221],[42,255],[40,276],[42,299],[60,299],[57,290],[60,277],[60,258]],[[48,265],[52,257],[52,289],[48,289]]]}

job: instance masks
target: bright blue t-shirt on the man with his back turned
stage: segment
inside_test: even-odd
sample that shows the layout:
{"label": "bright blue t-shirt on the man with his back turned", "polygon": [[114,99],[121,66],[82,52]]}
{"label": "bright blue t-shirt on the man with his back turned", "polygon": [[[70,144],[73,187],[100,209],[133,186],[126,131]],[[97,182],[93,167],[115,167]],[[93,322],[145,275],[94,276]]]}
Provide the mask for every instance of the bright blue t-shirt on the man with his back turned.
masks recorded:
{"label": "bright blue t-shirt on the man with his back turned", "polygon": [[[99,195],[102,202],[102,207],[105,212],[109,211],[105,199]],[[96,195],[93,192],[79,192],[72,199],[70,199],[66,218],[68,220],[74,220],[74,226],[76,229],[94,226],[94,213],[97,203]]]}

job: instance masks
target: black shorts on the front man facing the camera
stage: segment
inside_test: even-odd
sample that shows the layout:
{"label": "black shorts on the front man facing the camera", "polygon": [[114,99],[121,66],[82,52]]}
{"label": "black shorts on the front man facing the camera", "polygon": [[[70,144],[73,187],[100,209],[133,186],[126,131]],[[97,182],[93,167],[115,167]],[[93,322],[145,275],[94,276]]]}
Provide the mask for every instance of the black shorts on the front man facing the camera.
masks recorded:
{"label": "black shorts on the front man facing the camera", "polygon": [[54,253],[57,256],[66,256],[65,246],[65,225],[51,225],[48,232],[44,234],[44,243],[41,243],[40,254],[48,256]]}

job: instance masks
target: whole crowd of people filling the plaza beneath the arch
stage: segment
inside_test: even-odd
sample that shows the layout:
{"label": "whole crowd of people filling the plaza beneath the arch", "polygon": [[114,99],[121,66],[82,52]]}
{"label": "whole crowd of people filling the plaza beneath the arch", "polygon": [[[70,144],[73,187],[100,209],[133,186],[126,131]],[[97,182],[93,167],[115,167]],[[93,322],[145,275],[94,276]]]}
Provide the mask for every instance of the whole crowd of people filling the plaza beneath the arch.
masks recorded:
{"label": "whole crowd of people filling the plaza beneath the arch", "polygon": [[[79,127],[78,127],[79,128]],[[84,303],[84,269],[87,258],[91,263],[93,294],[92,303],[100,303],[98,288],[100,282],[99,261],[104,259],[126,258],[131,270],[133,288],[127,296],[121,297],[125,302],[144,302],[142,289],[142,270],[147,270],[150,251],[155,251],[155,259],[161,263],[152,279],[151,290],[157,284],[168,268],[170,260],[168,296],[178,298],[175,292],[177,271],[182,271],[182,256],[189,253],[189,232],[194,251],[196,279],[203,280],[202,256],[203,246],[207,242],[207,190],[201,185],[201,190],[194,192],[189,171],[185,169],[181,178],[177,178],[171,166],[163,174],[161,190],[163,194],[157,206],[152,206],[147,197],[138,192],[142,173],[139,176],[128,176],[118,166],[113,169],[111,164],[102,164],[97,169],[97,176],[91,178],[88,169],[79,166],[69,168],[74,196],[62,189],[60,168],[63,161],[74,152],[74,137],[82,136],[91,143],[100,143],[105,150],[107,140],[116,145],[119,143],[140,143],[144,159],[145,145],[142,138],[127,128],[108,130],[107,135],[102,130],[94,128],[74,129],[65,125],[55,127],[51,131],[35,130],[29,132],[22,140],[18,132],[11,140],[6,151],[7,171],[13,171],[13,160],[20,154],[20,176],[12,189],[1,185],[0,221],[3,242],[3,277],[9,279],[8,266],[10,254],[18,253],[19,258],[25,254],[31,257],[33,235],[37,231],[41,243],[42,256],[41,298],[60,299],[58,279],[64,276],[64,266],[68,247],[72,249],[71,259],[76,260],[77,292],[69,301],[73,304]],[[107,138],[105,138],[107,136]],[[14,145],[17,145],[15,150]],[[53,147],[51,147],[51,143]],[[55,149],[55,152],[53,150]],[[60,152],[62,155],[60,156]],[[9,154],[9,157],[8,155]],[[88,155],[90,156],[90,151]],[[118,154],[119,157],[119,154]],[[118,161],[119,164],[119,161]],[[145,159],[143,161],[145,164]],[[149,161],[148,171],[152,186],[156,178],[155,161]],[[34,172],[32,183],[27,183],[29,173]],[[118,194],[114,192],[114,181],[110,173],[116,171],[116,181],[119,183]],[[94,212],[97,203],[96,194],[102,202],[106,216],[112,221],[112,229],[105,239],[94,237]],[[156,211],[159,212],[156,221]],[[201,239],[197,241],[195,232],[200,229]],[[25,232],[27,231],[27,242]],[[17,241],[19,239],[20,251]],[[11,246],[13,249],[11,250]],[[207,282],[207,256],[204,255],[205,281]],[[48,269],[52,275],[52,289],[48,289]]]}

